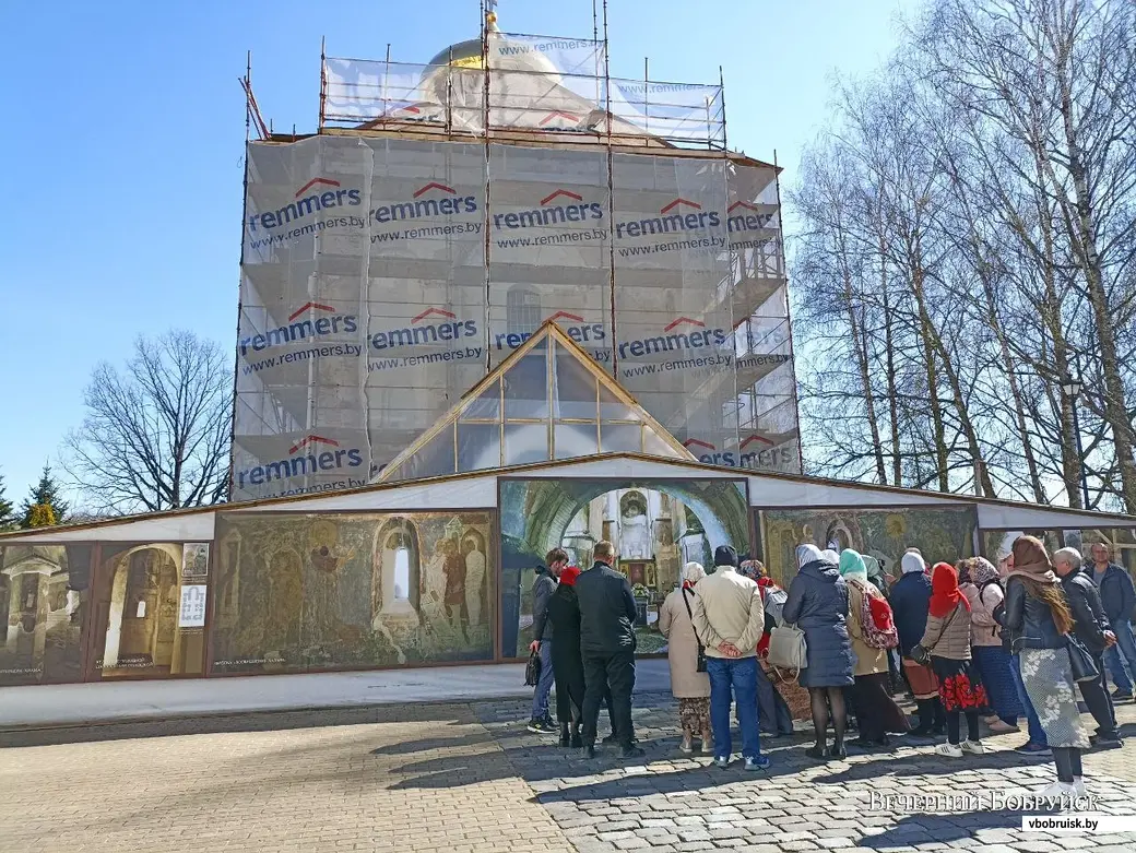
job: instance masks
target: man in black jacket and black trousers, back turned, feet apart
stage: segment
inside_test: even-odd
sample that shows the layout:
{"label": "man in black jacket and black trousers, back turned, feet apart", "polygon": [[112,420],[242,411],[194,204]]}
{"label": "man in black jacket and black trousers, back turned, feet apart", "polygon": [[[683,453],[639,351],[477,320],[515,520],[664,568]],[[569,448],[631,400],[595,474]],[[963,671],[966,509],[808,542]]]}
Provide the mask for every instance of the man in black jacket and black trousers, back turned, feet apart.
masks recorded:
{"label": "man in black jacket and black trousers, back turned, feet apart", "polygon": [[611,691],[616,739],[624,758],[644,755],[635,745],[632,689],[635,686],[635,595],[627,578],[611,568],[616,549],[595,543],[595,563],[576,579],[579,650],[584,658],[584,754],[595,756],[600,703]]}

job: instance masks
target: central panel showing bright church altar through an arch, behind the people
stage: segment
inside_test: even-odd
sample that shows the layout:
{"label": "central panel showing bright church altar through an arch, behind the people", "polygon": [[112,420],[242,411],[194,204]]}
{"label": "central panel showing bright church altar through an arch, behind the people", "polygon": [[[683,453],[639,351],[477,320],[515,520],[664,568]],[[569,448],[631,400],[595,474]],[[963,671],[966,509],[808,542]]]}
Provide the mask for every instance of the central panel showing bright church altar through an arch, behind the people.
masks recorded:
{"label": "central panel showing bright church altar through an arch, behind the people", "polygon": [[523,657],[533,634],[533,582],[545,554],[563,547],[592,566],[600,540],[616,546],[638,604],[638,653],[665,649],[654,629],[659,604],[685,562],[712,566],[713,549],[750,551],[745,480],[500,480],[501,655]]}

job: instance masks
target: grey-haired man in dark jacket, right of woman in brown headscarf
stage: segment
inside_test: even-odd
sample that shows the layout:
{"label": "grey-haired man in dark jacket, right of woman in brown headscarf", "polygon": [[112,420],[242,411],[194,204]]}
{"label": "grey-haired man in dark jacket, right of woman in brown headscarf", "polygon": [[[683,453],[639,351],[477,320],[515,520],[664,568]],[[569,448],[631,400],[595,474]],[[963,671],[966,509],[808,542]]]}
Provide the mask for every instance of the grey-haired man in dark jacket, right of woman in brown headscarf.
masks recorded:
{"label": "grey-haired man in dark jacket, right of woman in brown headscarf", "polygon": [[1074,635],[1092,653],[1100,674],[1092,681],[1078,681],[1088,712],[1096,720],[1096,742],[1101,746],[1120,746],[1117,737],[1117,714],[1104,681],[1104,650],[1116,642],[1093,582],[1080,571],[1080,554],[1062,547],[1053,553],[1053,570],[1061,578],[1066,601],[1072,611]]}

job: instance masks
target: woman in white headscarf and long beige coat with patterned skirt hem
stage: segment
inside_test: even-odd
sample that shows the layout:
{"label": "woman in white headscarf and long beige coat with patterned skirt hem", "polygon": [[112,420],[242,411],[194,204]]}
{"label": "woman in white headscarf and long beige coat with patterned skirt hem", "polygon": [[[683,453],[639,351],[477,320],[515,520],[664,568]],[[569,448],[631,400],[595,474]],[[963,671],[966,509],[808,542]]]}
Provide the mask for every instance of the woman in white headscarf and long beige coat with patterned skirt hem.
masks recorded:
{"label": "woman in white headscarf and long beige coat with patterned skirt hem", "polygon": [[705,577],[701,563],[683,567],[683,583],[659,607],[659,630],[667,638],[670,663],[670,692],[678,700],[678,719],[683,725],[683,742],[678,749],[694,752],[694,737],[702,736],[702,751],[713,751],[710,729],[710,678],[698,671],[699,639],[691,616],[698,593],[694,585]]}

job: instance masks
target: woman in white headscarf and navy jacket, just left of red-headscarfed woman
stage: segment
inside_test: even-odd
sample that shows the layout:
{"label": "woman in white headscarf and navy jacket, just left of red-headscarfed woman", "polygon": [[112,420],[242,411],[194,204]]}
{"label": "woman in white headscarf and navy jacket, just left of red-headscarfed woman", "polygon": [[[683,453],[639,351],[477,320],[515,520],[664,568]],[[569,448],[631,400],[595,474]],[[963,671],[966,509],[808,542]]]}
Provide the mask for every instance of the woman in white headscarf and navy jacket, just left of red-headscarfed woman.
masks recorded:
{"label": "woman in white headscarf and navy jacket, just left of red-headscarfed woman", "polygon": [[889,603],[900,633],[900,657],[911,694],[916,699],[919,726],[912,735],[927,737],[946,733],[946,716],[938,701],[938,679],[929,666],[917,663],[911,650],[927,630],[927,609],[930,605],[930,577],[918,549],[910,547],[900,561],[903,577],[892,584]]}

